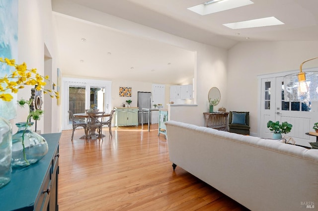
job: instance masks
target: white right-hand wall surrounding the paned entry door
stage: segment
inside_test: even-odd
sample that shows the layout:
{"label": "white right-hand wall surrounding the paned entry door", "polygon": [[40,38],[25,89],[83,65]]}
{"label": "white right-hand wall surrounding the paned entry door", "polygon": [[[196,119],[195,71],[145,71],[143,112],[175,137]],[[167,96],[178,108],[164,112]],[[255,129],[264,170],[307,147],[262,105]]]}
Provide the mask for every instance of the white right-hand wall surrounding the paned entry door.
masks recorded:
{"label": "white right-hand wall surrounding the paned entry door", "polygon": [[[318,42],[239,43],[229,50],[227,110],[249,111],[250,132],[256,134],[257,76],[298,70],[304,60],[315,56],[318,56]],[[317,66],[318,60],[313,60],[303,68]]]}

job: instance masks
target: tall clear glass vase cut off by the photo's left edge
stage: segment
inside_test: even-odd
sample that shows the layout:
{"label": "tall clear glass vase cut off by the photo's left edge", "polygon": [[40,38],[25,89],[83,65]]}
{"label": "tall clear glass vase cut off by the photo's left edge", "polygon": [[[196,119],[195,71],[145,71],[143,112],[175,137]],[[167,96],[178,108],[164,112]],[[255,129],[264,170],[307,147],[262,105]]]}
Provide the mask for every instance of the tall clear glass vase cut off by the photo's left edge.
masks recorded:
{"label": "tall clear glass vase cut off by the photo's left edge", "polygon": [[11,180],[12,126],[0,117],[0,188]]}

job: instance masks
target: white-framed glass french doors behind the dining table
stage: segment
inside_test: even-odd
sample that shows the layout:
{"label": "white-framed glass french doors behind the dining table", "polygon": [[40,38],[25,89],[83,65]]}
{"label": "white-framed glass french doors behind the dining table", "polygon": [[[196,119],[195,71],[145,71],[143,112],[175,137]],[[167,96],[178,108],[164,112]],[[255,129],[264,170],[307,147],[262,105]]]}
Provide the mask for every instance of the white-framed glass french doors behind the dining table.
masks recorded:
{"label": "white-framed glass french doors behind the dining table", "polygon": [[68,110],[73,113],[84,113],[91,107],[110,113],[111,82],[99,80],[63,79],[63,118],[62,129],[72,129]]}

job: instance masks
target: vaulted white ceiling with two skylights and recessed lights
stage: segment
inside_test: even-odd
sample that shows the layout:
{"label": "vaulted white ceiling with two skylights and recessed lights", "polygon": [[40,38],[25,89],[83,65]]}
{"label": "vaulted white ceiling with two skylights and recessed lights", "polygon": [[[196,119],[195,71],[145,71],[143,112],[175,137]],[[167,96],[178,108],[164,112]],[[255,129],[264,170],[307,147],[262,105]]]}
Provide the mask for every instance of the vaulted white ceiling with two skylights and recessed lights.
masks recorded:
{"label": "vaulted white ceiling with two skylights and recessed lights", "polygon": [[[68,0],[52,1],[61,3]],[[253,4],[204,16],[187,9],[203,3],[204,0],[69,1],[224,49],[230,49],[238,42],[318,40],[317,0],[252,0]],[[64,74],[83,77],[87,73],[92,76],[104,74],[103,78],[109,79],[122,77],[168,84],[180,84],[193,77],[194,52],[58,13],[55,16],[59,32],[61,69]],[[223,25],[271,16],[285,24],[239,30]],[[86,42],[81,42],[81,38],[85,38]],[[170,80],[167,81],[167,78]]]}

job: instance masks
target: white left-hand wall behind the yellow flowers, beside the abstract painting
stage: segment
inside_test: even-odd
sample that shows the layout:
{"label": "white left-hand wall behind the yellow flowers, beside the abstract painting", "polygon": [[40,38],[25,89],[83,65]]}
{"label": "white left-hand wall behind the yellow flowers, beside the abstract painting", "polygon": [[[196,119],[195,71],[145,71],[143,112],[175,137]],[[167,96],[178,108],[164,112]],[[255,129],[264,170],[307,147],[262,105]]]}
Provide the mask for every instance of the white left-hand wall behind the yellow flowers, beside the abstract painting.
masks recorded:
{"label": "white left-hand wall behind the yellow flowers, beside the abstract painting", "polygon": [[[28,68],[37,68],[38,73],[44,75],[44,45],[47,46],[52,57],[56,57],[51,0],[19,0],[18,4],[18,58],[16,61],[17,63],[25,62]],[[53,61],[52,69],[56,70],[55,61]],[[50,79],[56,82],[56,73],[52,73],[52,76]],[[28,86],[20,90],[17,99],[29,99],[31,88],[33,87]],[[54,113],[54,124],[52,124],[51,132],[58,132],[61,130],[61,115],[59,115],[60,111],[59,107],[56,106],[56,100],[53,102],[55,104],[48,102],[52,105],[52,113]],[[17,108],[17,118],[11,120],[13,133],[17,131],[15,123],[26,121],[27,115],[28,108]],[[37,130],[44,131],[44,122],[45,118],[42,117],[37,123]],[[34,126],[32,129],[34,130]]]}

